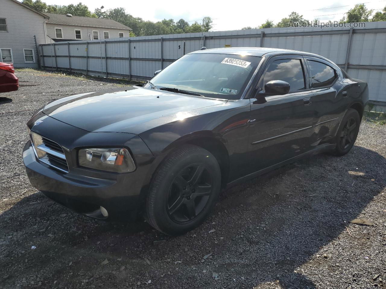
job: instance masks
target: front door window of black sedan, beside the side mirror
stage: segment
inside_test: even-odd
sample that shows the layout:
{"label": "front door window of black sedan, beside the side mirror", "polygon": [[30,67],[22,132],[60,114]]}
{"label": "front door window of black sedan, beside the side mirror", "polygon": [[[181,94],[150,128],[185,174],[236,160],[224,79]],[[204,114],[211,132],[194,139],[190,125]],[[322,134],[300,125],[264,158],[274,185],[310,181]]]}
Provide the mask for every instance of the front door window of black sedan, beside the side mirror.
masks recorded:
{"label": "front door window of black sedan, beside the side mirror", "polygon": [[305,89],[303,66],[300,59],[274,60],[268,67],[263,87],[271,80],[281,80],[289,83],[289,92]]}

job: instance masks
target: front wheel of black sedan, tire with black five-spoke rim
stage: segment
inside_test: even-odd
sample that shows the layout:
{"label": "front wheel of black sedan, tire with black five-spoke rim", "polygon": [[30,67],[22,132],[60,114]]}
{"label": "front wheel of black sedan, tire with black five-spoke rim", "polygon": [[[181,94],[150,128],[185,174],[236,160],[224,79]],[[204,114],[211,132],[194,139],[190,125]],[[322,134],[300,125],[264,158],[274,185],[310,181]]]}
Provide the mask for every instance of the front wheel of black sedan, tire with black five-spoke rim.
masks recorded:
{"label": "front wheel of black sedan, tire with black five-spoke rim", "polygon": [[182,235],[205,221],[221,187],[221,171],[207,150],[186,145],[155,172],[146,201],[146,220],[167,235]]}

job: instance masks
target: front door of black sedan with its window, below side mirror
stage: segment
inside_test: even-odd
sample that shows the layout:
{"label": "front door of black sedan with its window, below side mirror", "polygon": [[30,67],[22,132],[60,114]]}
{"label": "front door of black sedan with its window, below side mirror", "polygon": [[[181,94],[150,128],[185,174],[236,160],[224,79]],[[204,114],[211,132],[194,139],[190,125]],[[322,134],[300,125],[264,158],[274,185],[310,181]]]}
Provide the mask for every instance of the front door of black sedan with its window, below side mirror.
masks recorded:
{"label": "front door of black sedan with its window, below side mirror", "polygon": [[[313,93],[301,55],[280,55],[270,59],[257,82],[259,90],[251,98],[249,153],[251,172],[294,158],[311,149]],[[271,80],[286,81],[284,95],[266,95],[264,85]]]}

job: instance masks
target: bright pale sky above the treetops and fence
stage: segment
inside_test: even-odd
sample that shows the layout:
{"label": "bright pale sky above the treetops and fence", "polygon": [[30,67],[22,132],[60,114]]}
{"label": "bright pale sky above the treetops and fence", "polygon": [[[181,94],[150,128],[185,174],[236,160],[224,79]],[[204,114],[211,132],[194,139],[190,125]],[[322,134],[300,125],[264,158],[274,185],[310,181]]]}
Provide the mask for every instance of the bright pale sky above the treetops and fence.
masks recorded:
{"label": "bright pale sky above the treetops and fence", "polygon": [[[147,1],[127,1],[127,0],[45,0],[47,4],[68,5],[82,2],[94,11],[95,8],[124,7],[127,13],[134,17],[141,17],[144,20],[159,21],[164,18],[173,18],[174,21],[180,18],[185,19],[189,24],[202,21],[205,16],[213,19],[213,29],[211,31],[237,30],[242,27],[256,27],[265,22],[266,19],[277,23],[281,18],[288,17],[292,11],[303,14],[308,20],[319,18],[321,22],[339,21],[345,12],[353,8],[355,0],[340,1],[213,1],[196,0],[194,2],[175,1],[175,0],[147,0]],[[367,8],[381,11],[386,6],[386,0],[373,1],[367,0]],[[194,4],[193,4],[194,3]],[[344,6],[344,7],[342,7]],[[374,11],[374,12],[376,12]],[[201,20],[200,20],[201,19]]]}

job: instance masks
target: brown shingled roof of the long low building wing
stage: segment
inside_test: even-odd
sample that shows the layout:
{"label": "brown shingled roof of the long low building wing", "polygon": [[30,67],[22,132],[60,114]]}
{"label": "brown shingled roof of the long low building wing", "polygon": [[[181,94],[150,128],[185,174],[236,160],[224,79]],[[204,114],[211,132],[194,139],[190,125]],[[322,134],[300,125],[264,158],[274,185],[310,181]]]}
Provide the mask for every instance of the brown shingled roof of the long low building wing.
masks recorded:
{"label": "brown shingled roof of the long low building wing", "polygon": [[55,13],[47,13],[47,12],[44,12],[44,14],[46,14],[49,17],[49,19],[46,21],[46,23],[49,23],[49,24],[65,24],[65,25],[131,30],[130,27],[120,24],[119,22],[112,19],[92,18],[92,17],[83,17],[83,16],[68,17],[65,14],[55,14]]}

